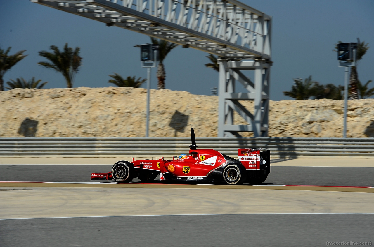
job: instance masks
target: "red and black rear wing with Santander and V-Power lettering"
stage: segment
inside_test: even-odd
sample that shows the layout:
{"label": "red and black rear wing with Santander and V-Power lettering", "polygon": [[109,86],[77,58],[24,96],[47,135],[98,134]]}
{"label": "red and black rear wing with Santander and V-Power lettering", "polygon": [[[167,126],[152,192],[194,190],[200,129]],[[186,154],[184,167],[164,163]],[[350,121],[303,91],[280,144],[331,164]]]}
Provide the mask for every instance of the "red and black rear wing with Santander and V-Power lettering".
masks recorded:
{"label": "red and black rear wing with Santander and V-Power lettering", "polygon": [[270,150],[261,152],[261,148],[239,148],[237,156],[245,169],[261,169],[270,173]]}

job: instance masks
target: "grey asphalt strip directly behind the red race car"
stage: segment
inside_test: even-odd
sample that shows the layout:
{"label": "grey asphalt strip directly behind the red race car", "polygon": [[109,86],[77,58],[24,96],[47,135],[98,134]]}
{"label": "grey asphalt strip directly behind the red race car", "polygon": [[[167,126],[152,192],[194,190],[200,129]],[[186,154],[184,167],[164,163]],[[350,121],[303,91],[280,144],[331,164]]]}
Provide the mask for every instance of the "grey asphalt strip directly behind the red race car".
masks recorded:
{"label": "grey asphalt strip directly behind the red race car", "polygon": [[[110,172],[111,167],[111,165],[0,165],[0,181],[89,182],[92,172]],[[272,166],[264,184],[372,187],[374,168]]]}

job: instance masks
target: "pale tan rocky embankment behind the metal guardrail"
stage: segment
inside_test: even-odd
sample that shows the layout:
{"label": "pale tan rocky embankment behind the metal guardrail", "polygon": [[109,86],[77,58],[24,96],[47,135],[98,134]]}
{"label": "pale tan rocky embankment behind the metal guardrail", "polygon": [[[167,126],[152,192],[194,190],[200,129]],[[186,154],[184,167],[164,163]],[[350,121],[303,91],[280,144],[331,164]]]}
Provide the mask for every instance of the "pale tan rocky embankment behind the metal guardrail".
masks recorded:
{"label": "pale tan rocky embankment behind the metal guardrail", "polygon": [[[144,137],[143,88],[0,91],[0,137]],[[217,136],[218,97],[151,90],[150,137]],[[252,109],[251,102],[243,104]],[[238,115],[236,124],[245,124]],[[349,100],[347,137],[374,137],[374,99]],[[270,137],[342,137],[343,101],[270,101]]]}

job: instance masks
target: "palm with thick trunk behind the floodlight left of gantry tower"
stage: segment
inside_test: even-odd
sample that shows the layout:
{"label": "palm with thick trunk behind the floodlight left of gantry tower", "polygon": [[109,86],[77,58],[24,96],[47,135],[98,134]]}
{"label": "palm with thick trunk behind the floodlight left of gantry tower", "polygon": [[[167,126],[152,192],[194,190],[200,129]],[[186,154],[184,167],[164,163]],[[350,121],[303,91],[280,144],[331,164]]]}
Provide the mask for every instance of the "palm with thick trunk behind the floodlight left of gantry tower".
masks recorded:
{"label": "palm with thick trunk behind the floodlight left of gantry tower", "polygon": [[[166,78],[166,72],[165,72],[165,66],[163,64],[163,61],[165,60],[166,56],[168,56],[169,52],[173,50],[175,47],[178,46],[178,44],[174,44],[165,40],[159,40],[157,38],[151,38],[152,44],[158,44],[160,46],[158,53],[158,60],[159,63],[157,65],[157,89],[165,89],[165,78]],[[140,47],[140,45],[135,45],[135,47]]]}

